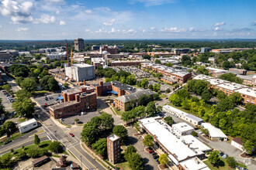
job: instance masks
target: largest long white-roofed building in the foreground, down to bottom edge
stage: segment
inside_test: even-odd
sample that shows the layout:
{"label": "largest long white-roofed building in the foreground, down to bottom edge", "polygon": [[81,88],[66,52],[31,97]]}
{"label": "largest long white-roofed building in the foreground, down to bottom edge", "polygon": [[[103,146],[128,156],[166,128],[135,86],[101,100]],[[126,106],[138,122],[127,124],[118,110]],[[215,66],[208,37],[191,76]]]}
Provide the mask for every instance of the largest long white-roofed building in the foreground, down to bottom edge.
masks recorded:
{"label": "largest long white-roofed building in the foreground, down to bottom edge", "polygon": [[176,137],[174,131],[161,117],[148,117],[139,120],[139,122],[140,128],[153,136],[155,145],[164,151],[179,169],[199,170],[202,169],[202,165],[207,169],[203,162],[193,168],[187,168],[189,167],[187,161],[190,158],[197,158],[197,152],[189,148],[189,145],[185,145],[181,138]]}

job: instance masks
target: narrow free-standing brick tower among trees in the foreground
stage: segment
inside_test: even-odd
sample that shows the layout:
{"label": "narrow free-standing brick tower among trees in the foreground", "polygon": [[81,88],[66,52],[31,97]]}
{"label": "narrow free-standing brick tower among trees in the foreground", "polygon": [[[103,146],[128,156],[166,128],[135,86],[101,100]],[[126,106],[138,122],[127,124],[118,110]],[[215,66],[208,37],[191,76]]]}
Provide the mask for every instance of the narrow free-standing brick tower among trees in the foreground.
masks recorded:
{"label": "narrow free-standing brick tower among trees in the foreground", "polygon": [[116,164],[121,158],[120,138],[112,134],[107,138],[109,162]]}

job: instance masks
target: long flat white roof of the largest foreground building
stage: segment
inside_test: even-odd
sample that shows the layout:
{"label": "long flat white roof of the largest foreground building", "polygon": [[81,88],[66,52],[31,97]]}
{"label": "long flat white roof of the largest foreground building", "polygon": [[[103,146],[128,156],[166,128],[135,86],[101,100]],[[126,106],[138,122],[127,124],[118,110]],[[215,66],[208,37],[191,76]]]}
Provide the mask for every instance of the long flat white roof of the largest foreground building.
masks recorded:
{"label": "long flat white roof of the largest foreground building", "polygon": [[149,117],[140,120],[140,123],[147,128],[147,131],[150,131],[151,134],[157,137],[157,140],[164,145],[171,154],[176,155],[178,161],[182,161],[188,157],[194,157],[195,152],[188,148],[182,141],[175,137],[174,134],[171,134],[171,127],[168,124],[165,124],[161,120],[161,117]]}

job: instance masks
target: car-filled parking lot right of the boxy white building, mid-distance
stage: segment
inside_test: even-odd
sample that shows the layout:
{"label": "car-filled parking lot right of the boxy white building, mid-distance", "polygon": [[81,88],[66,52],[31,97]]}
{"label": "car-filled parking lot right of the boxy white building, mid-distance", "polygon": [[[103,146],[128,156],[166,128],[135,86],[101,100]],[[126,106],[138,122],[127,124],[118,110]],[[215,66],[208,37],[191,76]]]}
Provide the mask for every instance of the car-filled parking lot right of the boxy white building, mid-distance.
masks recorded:
{"label": "car-filled parking lot right of the boxy white building, mid-distance", "polygon": [[112,69],[116,70],[116,72],[119,72],[119,70],[124,70],[134,74],[136,78],[150,77],[150,73],[140,70],[136,66],[112,66]]}

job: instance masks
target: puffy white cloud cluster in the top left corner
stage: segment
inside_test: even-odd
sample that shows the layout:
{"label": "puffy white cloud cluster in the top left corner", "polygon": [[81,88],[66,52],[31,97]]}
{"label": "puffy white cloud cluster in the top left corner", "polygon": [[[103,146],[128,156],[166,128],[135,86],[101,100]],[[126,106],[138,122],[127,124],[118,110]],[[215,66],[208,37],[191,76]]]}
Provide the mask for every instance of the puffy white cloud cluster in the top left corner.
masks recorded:
{"label": "puffy white cloud cluster in the top left corner", "polygon": [[32,22],[33,0],[4,0],[0,5],[2,15],[10,17],[13,23]]}

